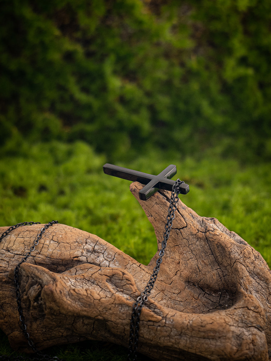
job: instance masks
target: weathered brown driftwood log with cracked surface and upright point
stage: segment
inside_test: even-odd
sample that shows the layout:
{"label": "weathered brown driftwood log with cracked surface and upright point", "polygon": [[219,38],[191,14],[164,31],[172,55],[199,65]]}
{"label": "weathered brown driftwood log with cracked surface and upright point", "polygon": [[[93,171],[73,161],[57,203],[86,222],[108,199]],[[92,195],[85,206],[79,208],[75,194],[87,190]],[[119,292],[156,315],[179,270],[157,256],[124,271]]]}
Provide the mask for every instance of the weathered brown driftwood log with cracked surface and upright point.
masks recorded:
{"label": "weathered brown driftwood log with cracked surface and upright point", "polygon": [[[170,192],[141,201],[163,239]],[[1,227],[4,232],[8,227]],[[0,243],[0,328],[11,346],[31,352],[20,329],[14,267],[41,226],[19,227]],[[80,340],[128,347],[132,305],[149,265],[98,236],[65,225],[43,235],[20,268],[27,331],[42,350]],[[268,360],[271,350],[271,272],[262,256],[214,218],[179,201],[158,279],[142,309],[138,351],[154,360]]]}

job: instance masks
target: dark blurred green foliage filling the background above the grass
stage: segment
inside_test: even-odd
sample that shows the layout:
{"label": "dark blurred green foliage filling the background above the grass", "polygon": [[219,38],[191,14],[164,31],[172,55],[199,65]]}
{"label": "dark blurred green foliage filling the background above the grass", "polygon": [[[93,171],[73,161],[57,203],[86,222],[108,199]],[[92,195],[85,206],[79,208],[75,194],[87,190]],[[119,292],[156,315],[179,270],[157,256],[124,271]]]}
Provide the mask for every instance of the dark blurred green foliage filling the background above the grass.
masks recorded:
{"label": "dark blurred green foliage filling the background above the grass", "polygon": [[2,0],[0,151],[270,160],[270,20],[260,0]]}

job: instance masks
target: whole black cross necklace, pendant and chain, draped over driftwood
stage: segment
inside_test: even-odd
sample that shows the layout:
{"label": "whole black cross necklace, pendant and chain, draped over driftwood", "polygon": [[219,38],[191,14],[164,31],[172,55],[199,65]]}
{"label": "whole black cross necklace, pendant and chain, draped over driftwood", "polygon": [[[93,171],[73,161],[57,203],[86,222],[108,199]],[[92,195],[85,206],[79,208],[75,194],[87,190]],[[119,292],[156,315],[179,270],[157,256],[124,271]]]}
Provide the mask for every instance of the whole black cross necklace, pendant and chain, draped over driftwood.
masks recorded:
{"label": "whole black cross necklace, pendant and chain, draped over driftwood", "polygon": [[[114,177],[119,177],[122,179],[127,179],[132,182],[139,182],[142,184],[145,184],[145,186],[139,191],[139,198],[141,200],[146,201],[149,199],[156,191],[159,189],[164,189],[171,192],[171,200],[169,203],[168,208],[168,215],[167,215],[167,222],[165,224],[165,232],[164,232],[164,239],[162,242],[162,248],[159,252],[159,258],[156,261],[156,266],[154,268],[154,271],[150,277],[149,282],[147,283],[145,289],[141,292],[141,295],[137,298],[137,301],[133,304],[133,312],[132,317],[130,321],[130,337],[129,337],[129,355],[128,360],[129,361],[136,361],[137,360],[137,344],[138,344],[138,337],[139,337],[139,319],[141,314],[141,309],[143,305],[147,302],[148,296],[151,293],[152,288],[154,287],[155,280],[158,276],[158,272],[160,269],[160,264],[162,263],[162,258],[165,252],[165,247],[167,245],[167,240],[169,238],[169,234],[172,228],[172,221],[175,217],[175,210],[176,210],[176,204],[178,202],[178,194],[187,194],[189,192],[189,185],[185,184],[183,181],[180,181],[180,179],[177,179],[177,181],[172,181],[171,178],[173,175],[177,173],[176,166],[171,164],[167,168],[165,168],[161,173],[158,175],[152,175],[147,173],[142,173],[136,170],[131,170],[127,168],[122,168],[113,164],[105,164],[103,166],[103,171],[105,174],[113,175]],[[0,236],[0,242],[1,240],[13,229],[24,226],[24,225],[30,225],[34,223],[39,222],[23,222],[18,223],[15,226],[10,227],[7,231],[5,231]],[[42,237],[42,234],[44,231],[49,227],[52,226],[54,223],[58,223],[57,221],[49,222],[46,226],[44,226],[40,232],[40,234],[37,236],[37,239],[34,241],[33,246],[30,248],[30,251],[27,253],[27,255],[22,259],[22,261],[17,265],[15,269],[15,275],[14,280],[16,284],[16,300],[18,304],[18,312],[20,314],[20,320],[21,320],[21,327],[23,330],[23,334],[26,337],[26,340],[28,341],[29,345],[33,349],[35,353],[38,354],[39,358],[35,358],[35,360],[60,360],[57,357],[50,357],[48,355],[44,355],[41,352],[38,351],[38,349],[35,347],[34,342],[30,338],[30,335],[26,331],[26,325],[24,321],[24,316],[22,312],[21,307],[21,297],[20,297],[20,283],[18,281],[18,272],[20,269],[20,265],[27,260],[28,257],[30,257],[31,252],[35,250],[35,246],[39,243],[40,238]],[[12,361],[18,361],[21,360],[22,357],[14,357],[14,356],[6,356],[6,355],[0,355],[0,359],[3,360],[12,360]],[[28,358],[25,358],[25,360]],[[34,359],[33,359],[34,360]]]}

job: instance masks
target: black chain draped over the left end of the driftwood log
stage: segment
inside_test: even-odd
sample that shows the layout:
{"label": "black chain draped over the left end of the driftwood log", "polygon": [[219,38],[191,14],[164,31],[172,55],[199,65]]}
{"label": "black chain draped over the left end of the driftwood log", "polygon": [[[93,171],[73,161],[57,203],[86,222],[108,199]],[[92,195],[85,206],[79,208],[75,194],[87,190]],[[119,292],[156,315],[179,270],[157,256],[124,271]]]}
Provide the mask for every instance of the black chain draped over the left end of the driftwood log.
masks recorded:
{"label": "black chain draped over the left end of the driftwood log", "polygon": [[[30,358],[30,357],[23,357],[23,356],[7,356],[7,355],[1,355],[0,359],[1,360],[5,360],[5,361],[20,361],[20,360],[31,360],[31,361],[40,361],[40,360],[47,360],[47,361],[64,361],[61,360],[58,357],[51,357],[48,355],[45,355],[43,353],[41,353],[35,346],[33,340],[31,339],[29,333],[26,331],[26,324],[25,324],[25,317],[23,316],[23,310],[22,310],[22,305],[21,305],[21,295],[20,295],[20,281],[19,281],[19,269],[20,266],[23,262],[25,262],[27,260],[27,258],[29,258],[31,256],[31,252],[33,252],[35,250],[35,247],[39,244],[39,240],[42,238],[43,233],[46,231],[47,228],[49,228],[50,226],[52,226],[53,224],[58,223],[58,221],[52,221],[47,223],[47,225],[45,225],[41,230],[40,233],[37,235],[37,238],[34,240],[33,245],[30,247],[29,252],[26,253],[25,257],[22,258],[21,262],[18,263],[18,265],[16,266],[15,270],[14,270],[14,282],[15,282],[15,289],[16,289],[16,301],[17,301],[17,305],[18,305],[18,312],[20,315],[20,322],[21,322],[21,328],[23,331],[23,334],[29,344],[29,346],[32,348],[32,350],[39,356],[34,357],[34,358]],[[23,223],[18,223],[15,226],[9,227],[8,230],[6,230],[0,237],[0,242],[1,240],[12,230],[16,229],[17,227],[20,226],[28,226],[28,225],[34,225],[34,224],[40,224],[40,222],[23,222]]]}

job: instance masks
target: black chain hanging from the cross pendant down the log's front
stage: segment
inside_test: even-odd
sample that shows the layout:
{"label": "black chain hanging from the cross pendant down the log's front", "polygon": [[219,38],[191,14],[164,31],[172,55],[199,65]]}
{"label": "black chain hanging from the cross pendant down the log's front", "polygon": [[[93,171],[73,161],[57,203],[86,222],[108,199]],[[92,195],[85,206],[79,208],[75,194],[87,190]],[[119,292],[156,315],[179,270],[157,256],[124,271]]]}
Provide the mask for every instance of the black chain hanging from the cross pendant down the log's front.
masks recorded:
{"label": "black chain hanging from the cross pendant down the log's front", "polygon": [[150,277],[147,286],[144,291],[141,292],[141,295],[138,297],[137,301],[133,304],[133,312],[130,321],[130,338],[129,338],[129,354],[128,361],[136,361],[137,360],[137,347],[138,347],[138,337],[139,337],[139,319],[143,305],[147,302],[148,296],[151,293],[152,288],[154,287],[154,283],[158,276],[158,272],[160,270],[160,265],[162,263],[162,258],[165,253],[165,247],[167,247],[167,241],[169,238],[169,234],[172,228],[172,222],[175,218],[175,210],[176,204],[179,200],[178,195],[180,194],[179,186],[184,183],[177,179],[177,181],[173,184],[171,199],[168,208],[167,215],[167,223],[165,225],[164,239],[162,241],[162,248],[159,252],[159,258],[156,261],[156,266],[154,267],[153,273]]}

